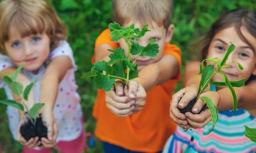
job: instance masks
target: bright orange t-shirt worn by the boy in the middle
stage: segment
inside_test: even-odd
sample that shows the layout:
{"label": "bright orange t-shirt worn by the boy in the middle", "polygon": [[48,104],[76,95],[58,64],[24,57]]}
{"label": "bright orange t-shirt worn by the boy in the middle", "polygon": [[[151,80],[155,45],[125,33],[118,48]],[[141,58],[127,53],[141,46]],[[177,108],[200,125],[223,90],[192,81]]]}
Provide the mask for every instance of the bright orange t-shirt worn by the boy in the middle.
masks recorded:
{"label": "bright orange t-shirt worn by the boy in the middle", "polygon": [[[113,48],[119,47],[111,41],[110,30],[106,29],[96,39],[95,50],[100,44],[107,43]],[[164,54],[174,55],[181,67],[181,51],[166,43]],[[95,52],[92,63],[95,62]],[[164,84],[155,86],[147,92],[146,104],[142,111],[128,117],[118,117],[106,107],[105,91],[98,89],[93,107],[93,117],[97,119],[96,136],[105,142],[128,150],[155,153],[163,150],[169,136],[177,125],[169,116],[170,101],[180,80],[180,73]]]}

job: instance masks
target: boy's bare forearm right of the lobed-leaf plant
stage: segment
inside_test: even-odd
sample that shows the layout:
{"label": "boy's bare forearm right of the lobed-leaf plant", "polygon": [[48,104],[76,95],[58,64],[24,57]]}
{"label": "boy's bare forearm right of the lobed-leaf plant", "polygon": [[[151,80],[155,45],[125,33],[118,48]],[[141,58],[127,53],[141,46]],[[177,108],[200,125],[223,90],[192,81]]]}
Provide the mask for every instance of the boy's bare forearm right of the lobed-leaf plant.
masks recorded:
{"label": "boy's bare forearm right of the lobed-leaf plant", "polygon": [[160,85],[175,77],[179,72],[177,59],[172,55],[164,55],[154,64],[145,66],[139,72],[139,77],[134,80],[140,82],[145,91],[149,91],[156,85]]}

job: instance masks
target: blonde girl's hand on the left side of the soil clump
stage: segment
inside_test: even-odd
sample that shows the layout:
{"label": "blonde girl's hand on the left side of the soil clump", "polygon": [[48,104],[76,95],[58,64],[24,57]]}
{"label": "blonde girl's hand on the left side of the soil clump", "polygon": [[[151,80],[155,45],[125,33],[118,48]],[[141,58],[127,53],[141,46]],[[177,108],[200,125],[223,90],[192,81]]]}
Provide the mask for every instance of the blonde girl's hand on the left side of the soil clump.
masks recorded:
{"label": "blonde girl's hand on the left side of the soil clump", "polygon": [[27,118],[23,113],[20,113],[20,123],[17,128],[17,141],[20,142],[21,145],[29,148],[38,147],[41,144],[41,142],[38,141],[38,137],[30,138],[29,141],[26,141],[26,139],[23,136],[21,136],[20,127],[28,121],[29,118]]}

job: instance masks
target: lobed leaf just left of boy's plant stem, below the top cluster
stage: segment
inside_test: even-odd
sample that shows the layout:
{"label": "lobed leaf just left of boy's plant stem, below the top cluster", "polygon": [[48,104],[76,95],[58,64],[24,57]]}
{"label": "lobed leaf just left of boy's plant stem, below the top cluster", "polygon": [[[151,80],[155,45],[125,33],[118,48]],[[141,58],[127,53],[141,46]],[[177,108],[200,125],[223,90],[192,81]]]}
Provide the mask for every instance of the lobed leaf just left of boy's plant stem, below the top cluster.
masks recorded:
{"label": "lobed leaf just left of boy's plant stem, below the top cluster", "polygon": [[125,49],[122,49],[121,47],[119,47],[119,48],[116,48],[115,50],[108,49],[108,51],[113,52],[108,56],[110,58],[110,61],[109,61],[110,64],[125,60]]}

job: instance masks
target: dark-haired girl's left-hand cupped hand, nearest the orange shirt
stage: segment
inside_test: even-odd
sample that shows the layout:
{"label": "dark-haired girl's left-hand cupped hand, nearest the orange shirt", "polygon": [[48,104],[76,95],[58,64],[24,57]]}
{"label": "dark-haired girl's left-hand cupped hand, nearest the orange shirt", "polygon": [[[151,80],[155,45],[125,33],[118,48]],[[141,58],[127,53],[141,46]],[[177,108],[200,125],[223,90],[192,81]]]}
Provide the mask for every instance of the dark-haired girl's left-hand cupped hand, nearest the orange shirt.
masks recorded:
{"label": "dark-haired girl's left-hand cupped hand, nearest the orange shirt", "polygon": [[192,101],[197,96],[197,93],[198,88],[191,85],[181,89],[172,96],[172,101],[170,104],[170,117],[178,126],[182,127],[184,131],[189,129],[189,124],[186,120],[186,116],[180,113],[178,108],[185,108],[189,104],[189,101]]}

